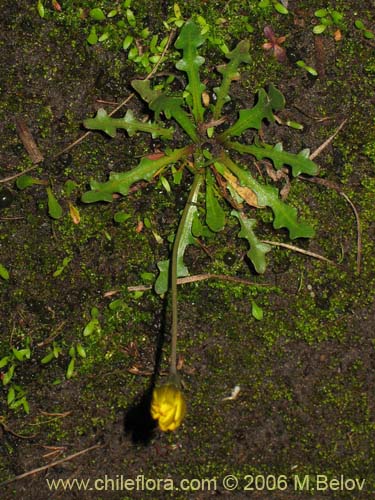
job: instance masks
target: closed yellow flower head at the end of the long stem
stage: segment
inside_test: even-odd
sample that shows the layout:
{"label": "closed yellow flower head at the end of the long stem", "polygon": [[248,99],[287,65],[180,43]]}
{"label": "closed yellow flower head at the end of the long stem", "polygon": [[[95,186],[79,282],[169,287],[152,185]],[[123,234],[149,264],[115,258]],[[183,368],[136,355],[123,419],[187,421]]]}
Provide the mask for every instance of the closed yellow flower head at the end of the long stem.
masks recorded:
{"label": "closed yellow flower head at the end of the long stem", "polygon": [[152,393],[151,416],[158,420],[162,431],[174,431],[181,425],[186,414],[184,395],[169,383],[156,387]]}

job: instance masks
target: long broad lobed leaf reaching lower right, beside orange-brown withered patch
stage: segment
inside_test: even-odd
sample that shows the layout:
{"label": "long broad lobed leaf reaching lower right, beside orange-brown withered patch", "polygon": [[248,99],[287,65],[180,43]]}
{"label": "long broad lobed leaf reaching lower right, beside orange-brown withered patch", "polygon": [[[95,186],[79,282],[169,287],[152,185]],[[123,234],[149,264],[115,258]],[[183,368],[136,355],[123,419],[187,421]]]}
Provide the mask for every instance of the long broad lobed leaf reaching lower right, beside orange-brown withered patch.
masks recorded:
{"label": "long broad lobed leaf reaching lower right, beside orange-brown withered patch", "polygon": [[285,227],[289,231],[291,239],[311,238],[314,229],[307,223],[297,220],[297,210],[287,205],[279,198],[278,190],[266,184],[260,184],[245,169],[238,167],[228,156],[222,154],[220,163],[215,167],[220,172],[221,165],[227,167],[240,181],[242,186],[249,187],[258,197],[259,207],[270,207],[274,214],[273,227],[280,229]]}

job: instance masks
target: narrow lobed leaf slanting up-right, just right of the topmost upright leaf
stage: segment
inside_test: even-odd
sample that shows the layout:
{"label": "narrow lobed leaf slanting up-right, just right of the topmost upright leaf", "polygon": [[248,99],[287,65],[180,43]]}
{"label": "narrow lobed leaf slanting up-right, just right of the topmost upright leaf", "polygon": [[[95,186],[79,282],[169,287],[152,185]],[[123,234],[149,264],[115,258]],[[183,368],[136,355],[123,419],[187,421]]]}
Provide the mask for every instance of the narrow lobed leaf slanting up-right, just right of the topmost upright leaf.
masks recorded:
{"label": "narrow lobed leaf slanting up-right, just right of the topmost upright leaf", "polygon": [[230,100],[229,88],[231,82],[238,78],[238,66],[241,63],[251,62],[249,51],[250,43],[247,40],[239,42],[231,52],[226,54],[226,58],[229,59],[230,62],[217,68],[223,75],[223,80],[220,87],[214,88],[217,98],[213,113],[214,120],[219,118],[224,103]]}

